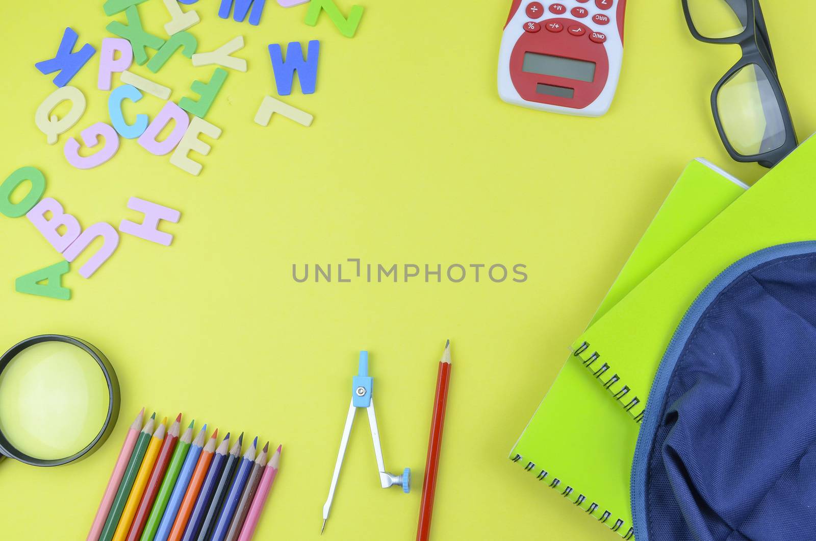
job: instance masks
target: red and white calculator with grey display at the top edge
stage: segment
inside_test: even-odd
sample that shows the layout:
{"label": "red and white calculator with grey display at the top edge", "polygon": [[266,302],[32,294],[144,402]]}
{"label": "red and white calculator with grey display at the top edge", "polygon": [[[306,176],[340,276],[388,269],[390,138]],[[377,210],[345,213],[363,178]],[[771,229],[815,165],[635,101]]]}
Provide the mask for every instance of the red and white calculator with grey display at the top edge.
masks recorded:
{"label": "red and white calculator with grey display at the top edge", "polygon": [[623,60],[626,0],[513,0],[499,49],[499,96],[556,113],[609,110]]}

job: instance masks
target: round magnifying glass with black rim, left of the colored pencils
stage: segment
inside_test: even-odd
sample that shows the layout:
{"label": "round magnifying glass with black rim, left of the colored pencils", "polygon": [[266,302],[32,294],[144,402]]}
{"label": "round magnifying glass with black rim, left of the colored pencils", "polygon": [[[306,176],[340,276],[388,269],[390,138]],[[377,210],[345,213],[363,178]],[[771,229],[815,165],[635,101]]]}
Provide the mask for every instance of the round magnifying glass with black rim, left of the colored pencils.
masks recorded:
{"label": "round magnifying glass with black rim, left of the colored pencils", "polygon": [[43,334],[0,356],[0,454],[67,464],[98,449],[118,416],[116,373],[90,343]]}

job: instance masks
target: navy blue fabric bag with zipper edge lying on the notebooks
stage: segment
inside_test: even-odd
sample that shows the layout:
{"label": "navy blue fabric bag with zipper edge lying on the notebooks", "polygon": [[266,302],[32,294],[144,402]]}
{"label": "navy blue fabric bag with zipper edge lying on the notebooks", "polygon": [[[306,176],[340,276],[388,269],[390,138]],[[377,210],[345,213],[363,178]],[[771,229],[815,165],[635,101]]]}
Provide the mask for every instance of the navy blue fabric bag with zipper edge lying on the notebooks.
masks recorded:
{"label": "navy blue fabric bag with zipper edge lying on the notebooks", "polygon": [[664,356],[632,463],[638,541],[816,539],[816,243],[725,270]]}

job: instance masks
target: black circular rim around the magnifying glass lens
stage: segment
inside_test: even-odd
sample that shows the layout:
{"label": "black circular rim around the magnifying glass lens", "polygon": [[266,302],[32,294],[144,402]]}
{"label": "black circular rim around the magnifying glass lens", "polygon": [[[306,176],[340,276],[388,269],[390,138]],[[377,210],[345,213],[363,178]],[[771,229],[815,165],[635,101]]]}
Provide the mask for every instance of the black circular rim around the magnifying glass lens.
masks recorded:
{"label": "black circular rim around the magnifying glass lens", "polygon": [[[98,449],[100,445],[102,445],[104,441],[108,439],[110,432],[113,431],[113,425],[115,424],[116,419],[119,417],[119,380],[116,377],[116,371],[113,370],[113,366],[101,351],[96,349],[96,347],[94,347],[91,343],[86,342],[81,338],[65,336],[64,334],[40,334],[39,336],[26,338],[25,340],[17,342],[14,346],[9,348],[8,351],[3,353],[2,356],[0,356],[0,372],[6,369],[6,366],[21,351],[27,347],[33,346],[34,344],[39,344],[42,342],[65,342],[79,347],[88,355],[91,355],[91,357],[96,361],[96,364],[99,365],[102,373],[104,374],[105,382],[108,384],[108,414],[105,416],[104,424],[100,428],[100,431],[96,434],[95,438],[91,440],[91,443],[86,445],[84,449],[68,457],[46,460],[44,458],[37,458],[24,454],[19,449],[16,449],[14,445],[11,445],[11,442],[2,433],[2,430],[0,430],[0,453],[9,458],[19,460],[22,463],[31,464],[32,466],[60,466],[62,464],[72,463],[81,458],[85,458],[88,454],[91,454],[93,451]],[[113,423],[111,423],[111,420],[113,420]]]}

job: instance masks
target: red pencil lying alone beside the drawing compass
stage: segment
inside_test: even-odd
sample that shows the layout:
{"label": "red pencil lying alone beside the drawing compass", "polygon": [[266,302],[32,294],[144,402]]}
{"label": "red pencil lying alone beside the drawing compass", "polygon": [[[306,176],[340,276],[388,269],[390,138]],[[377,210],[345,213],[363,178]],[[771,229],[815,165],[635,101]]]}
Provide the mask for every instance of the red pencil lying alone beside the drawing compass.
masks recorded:
{"label": "red pencil lying alone beside the drawing compass", "polygon": [[439,361],[437,373],[437,394],[433,399],[431,435],[428,437],[428,457],[425,459],[425,478],[422,481],[422,500],[419,503],[419,524],[416,528],[417,541],[427,541],[431,530],[433,495],[437,490],[439,454],[442,448],[442,428],[445,426],[445,409],[450,386],[450,340]]}

